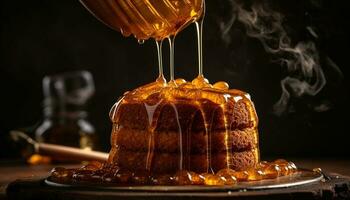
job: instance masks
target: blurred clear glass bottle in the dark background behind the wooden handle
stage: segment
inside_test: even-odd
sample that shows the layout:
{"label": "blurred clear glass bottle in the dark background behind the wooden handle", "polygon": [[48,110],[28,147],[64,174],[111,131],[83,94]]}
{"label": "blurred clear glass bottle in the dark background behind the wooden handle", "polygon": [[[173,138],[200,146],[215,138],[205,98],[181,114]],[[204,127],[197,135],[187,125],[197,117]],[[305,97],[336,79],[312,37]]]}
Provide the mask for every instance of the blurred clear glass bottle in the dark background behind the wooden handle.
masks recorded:
{"label": "blurred clear glass bottle in the dark background behind the wooden handle", "polygon": [[88,121],[86,103],[94,94],[92,75],[77,71],[43,79],[44,119],[35,130],[38,142],[82,149],[96,147],[94,126]]}

